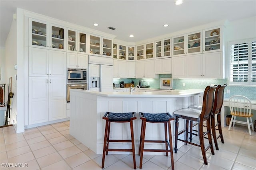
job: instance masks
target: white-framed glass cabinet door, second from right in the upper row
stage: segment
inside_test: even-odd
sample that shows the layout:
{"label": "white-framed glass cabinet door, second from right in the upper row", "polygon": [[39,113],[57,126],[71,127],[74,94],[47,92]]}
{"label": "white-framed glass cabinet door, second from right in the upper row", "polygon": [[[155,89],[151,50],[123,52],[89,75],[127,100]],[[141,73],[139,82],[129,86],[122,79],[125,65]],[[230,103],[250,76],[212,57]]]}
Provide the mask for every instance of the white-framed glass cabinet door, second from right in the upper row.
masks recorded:
{"label": "white-framed glass cabinet door, second from right in the upper row", "polygon": [[186,35],[186,54],[202,53],[202,31],[196,31]]}

